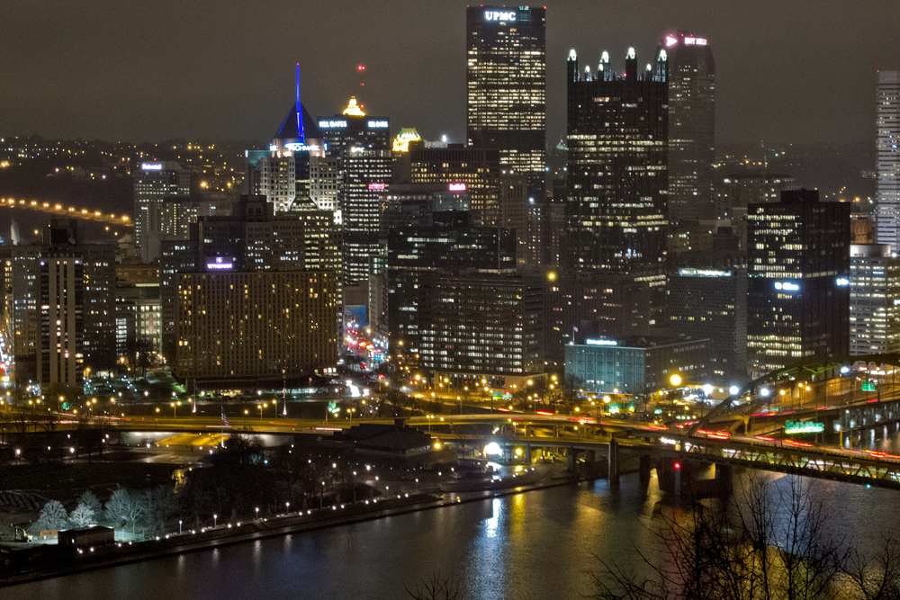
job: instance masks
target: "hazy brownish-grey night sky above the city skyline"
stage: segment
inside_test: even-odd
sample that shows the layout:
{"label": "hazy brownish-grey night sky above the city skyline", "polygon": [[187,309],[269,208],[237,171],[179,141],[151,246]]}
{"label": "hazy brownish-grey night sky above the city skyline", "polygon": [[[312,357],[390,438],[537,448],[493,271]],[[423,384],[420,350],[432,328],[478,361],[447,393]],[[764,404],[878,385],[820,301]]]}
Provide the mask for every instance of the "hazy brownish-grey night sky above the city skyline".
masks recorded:
{"label": "hazy brownish-grey night sky above the city skyline", "polygon": [[[0,0],[0,134],[266,141],[293,102],[350,94],[427,139],[465,133],[465,6],[455,0]],[[639,64],[666,32],[706,37],[724,143],[872,140],[877,69],[900,69],[898,0],[547,3],[548,139],[565,58]],[[356,65],[366,65],[365,87]]]}

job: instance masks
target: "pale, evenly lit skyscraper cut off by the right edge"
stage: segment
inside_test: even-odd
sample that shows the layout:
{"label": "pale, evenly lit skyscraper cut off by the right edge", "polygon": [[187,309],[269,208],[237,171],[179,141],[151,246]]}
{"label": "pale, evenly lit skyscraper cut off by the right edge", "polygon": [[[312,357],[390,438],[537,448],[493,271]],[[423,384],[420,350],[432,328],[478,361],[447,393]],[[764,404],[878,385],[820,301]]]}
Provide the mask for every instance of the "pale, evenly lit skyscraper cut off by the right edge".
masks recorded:
{"label": "pale, evenly lit skyscraper cut off by the right edge", "polygon": [[878,72],[876,242],[900,251],[900,71]]}

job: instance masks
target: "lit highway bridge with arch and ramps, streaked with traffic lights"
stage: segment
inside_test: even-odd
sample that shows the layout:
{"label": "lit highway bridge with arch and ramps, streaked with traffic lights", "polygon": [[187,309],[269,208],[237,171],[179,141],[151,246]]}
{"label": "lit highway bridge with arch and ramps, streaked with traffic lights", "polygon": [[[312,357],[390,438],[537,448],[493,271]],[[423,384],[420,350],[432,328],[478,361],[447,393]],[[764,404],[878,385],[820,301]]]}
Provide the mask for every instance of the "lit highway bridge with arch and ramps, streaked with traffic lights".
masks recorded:
{"label": "lit highway bridge with arch and ramps, streaked with traffic lights", "polygon": [[[797,363],[748,383],[693,422],[647,423],[599,412],[596,416],[567,416],[504,411],[416,416],[404,423],[450,446],[482,451],[496,444],[491,447],[500,449],[501,457],[508,461],[531,461],[538,451],[552,452],[565,456],[574,468],[580,460],[594,462],[602,457],[611,482],[618,478],[623,456],[637,456],[642,473],[649,473],[652,461],[662,467],[662,473],[670,474],[692,464],[714,463],[716,470],[724,473],[741,466],[900,488],[900,455],[854,448],[873,427],[893,427],[895,431],[900,427],[898,368],[898,354]],[[67,423],[62,417],[59,427],[85,423]],[[821,433],[786,434],[788,420],[815,424],[806,431]],[[357,424],[393,422],[356,419]],[[210,435],[235,431],[214,416],[135,416],[87,423],[134,432]],[[350,425],[346,420],[323,423],[260,418],[245,420],[240,431],[328,436]],[[828,438],[837,443],[829,443]]]}

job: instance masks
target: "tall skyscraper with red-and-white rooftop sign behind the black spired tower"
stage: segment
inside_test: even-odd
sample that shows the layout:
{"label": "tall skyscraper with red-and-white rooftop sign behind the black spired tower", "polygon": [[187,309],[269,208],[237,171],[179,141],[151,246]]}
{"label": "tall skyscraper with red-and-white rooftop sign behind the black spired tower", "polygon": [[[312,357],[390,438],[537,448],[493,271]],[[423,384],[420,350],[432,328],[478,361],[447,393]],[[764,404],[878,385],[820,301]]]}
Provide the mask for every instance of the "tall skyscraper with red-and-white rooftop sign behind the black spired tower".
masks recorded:
{"label": "tall skyscraper with red-and-white rooftop sign behind the black spired tower", "polygon": [[667,35],[669,220],[715,219],[716,62],[705,38]]}

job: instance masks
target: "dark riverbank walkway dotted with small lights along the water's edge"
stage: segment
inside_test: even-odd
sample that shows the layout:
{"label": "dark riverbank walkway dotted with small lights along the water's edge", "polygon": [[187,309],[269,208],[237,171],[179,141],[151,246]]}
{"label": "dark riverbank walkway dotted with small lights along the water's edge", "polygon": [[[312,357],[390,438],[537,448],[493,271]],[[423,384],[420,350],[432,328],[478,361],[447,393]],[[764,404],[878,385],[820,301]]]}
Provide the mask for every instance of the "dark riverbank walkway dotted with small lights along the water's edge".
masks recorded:
{"label": "dark riverbank walkway dotted with small lights along the water's edge", "polygon": [[[391,497],[324,506],[302,513],[275,515],[252,521],[223,523],[215,527],[185,530],[184,533],[169,534],[143,542],[116,542],[116,544],[106,547],[84,548],[80,552],[55,545],[41,545],[40,548],[32,548],[34,558],[29,560],[30,569],[23,569],[14,575],[0,578],[0,587],[72,575],[88,570],[117,567],[186,552],[210,550],[231,544],[373,521],[394,515],[434,510],[490,497],[504,497],[538,489],[570,485],[578,481],[598,479],[600,475],[599,471],[576,475],[551,466],[545,470],[517,473],[503,480],[487,482],[487,485],[480,489],[468,491],[439,489],[436,492],[405,490],[400,494],[393,494]],[[14,545],[7,544],[4,550],[10,547],[14,547]],[[23,547],[23,550],[19,551],[25,551],[25,548]]]}

